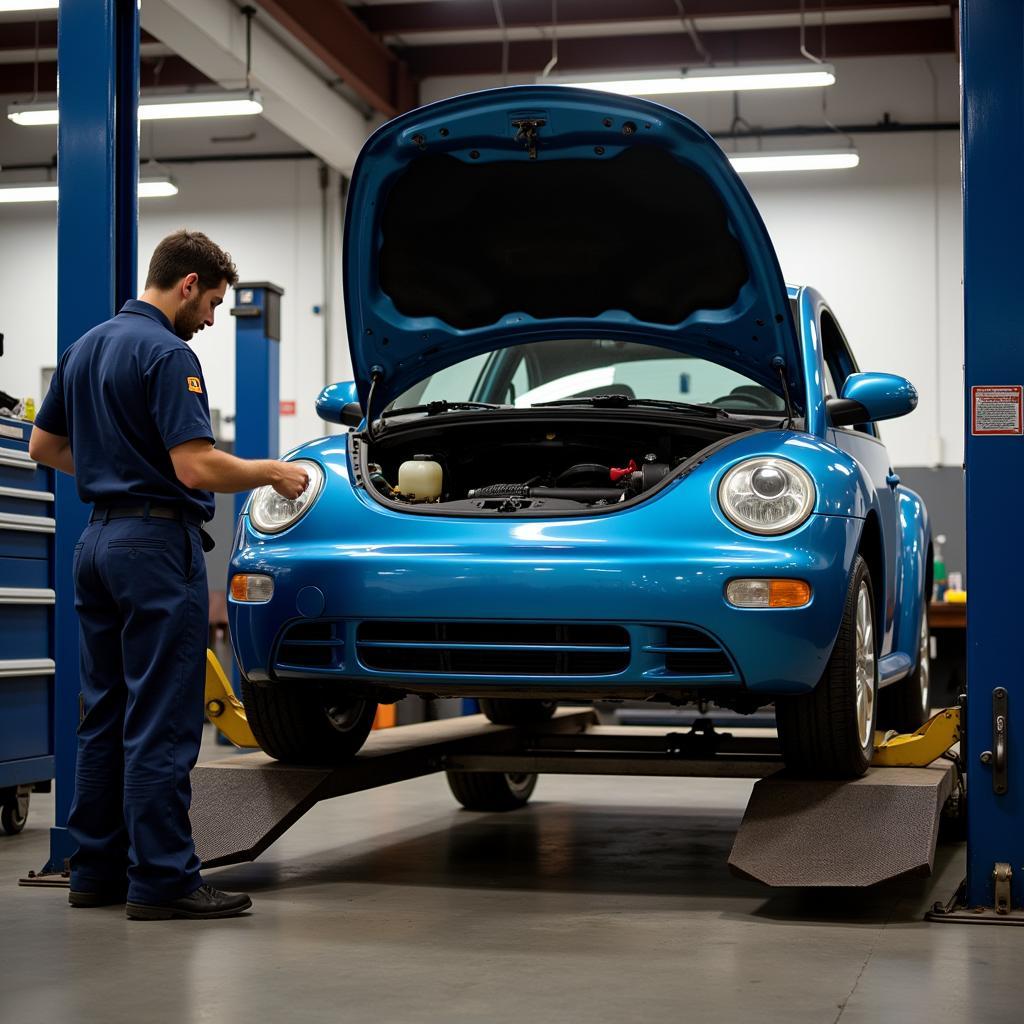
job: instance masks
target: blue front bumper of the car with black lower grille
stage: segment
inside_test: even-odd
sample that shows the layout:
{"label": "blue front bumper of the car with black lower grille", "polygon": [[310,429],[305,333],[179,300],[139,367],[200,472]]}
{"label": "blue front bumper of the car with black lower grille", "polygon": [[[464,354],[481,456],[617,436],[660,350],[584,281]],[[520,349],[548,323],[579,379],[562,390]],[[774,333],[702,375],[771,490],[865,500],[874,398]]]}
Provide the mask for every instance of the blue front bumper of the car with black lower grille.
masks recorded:
{"label": "blue front bumper of the car with black lower grille", "polygon": [[[231,573],[274,578],[267,603],[229,602],[247,678],[439,695],[798,693],[831,652],[863,525],[816,514],[783,538],[723,527],[659,543],[662,530],[609,535],[596,519],[385,521],[379,543],[299,544],[242,518]],[[813,596],[735,608],[737,577],[806,580]]]}

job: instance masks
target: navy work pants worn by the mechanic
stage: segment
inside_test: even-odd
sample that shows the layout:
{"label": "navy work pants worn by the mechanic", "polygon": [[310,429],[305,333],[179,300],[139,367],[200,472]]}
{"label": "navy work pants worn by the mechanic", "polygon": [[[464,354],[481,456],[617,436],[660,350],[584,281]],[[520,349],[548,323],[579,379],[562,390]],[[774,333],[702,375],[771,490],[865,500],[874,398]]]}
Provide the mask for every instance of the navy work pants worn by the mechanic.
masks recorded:
{"label": "navy work pants worn by the mechanic", "polygon": [[209,630],[197,526],[90,522],[75,549],[82,696],[72,889],[161,903],[201,884],[188,821]]}

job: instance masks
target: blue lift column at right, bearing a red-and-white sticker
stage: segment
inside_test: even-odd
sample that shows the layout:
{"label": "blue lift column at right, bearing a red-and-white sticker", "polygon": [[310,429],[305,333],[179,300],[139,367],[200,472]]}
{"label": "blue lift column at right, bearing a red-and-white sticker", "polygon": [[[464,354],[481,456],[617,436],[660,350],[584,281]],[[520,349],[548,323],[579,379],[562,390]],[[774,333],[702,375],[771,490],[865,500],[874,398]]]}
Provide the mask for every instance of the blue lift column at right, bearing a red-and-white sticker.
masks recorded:
{"label": "blue lift column at right, bearing a red-and-white sticker", "polygon": [[[965,0],[961,5],[964,167],[964,328],[966,345],[968,905],[993,905],[992,870],[1013,868],[1012,902],[1024,906],[1024,685],[1018,646],[1020,600],[1008,529],[1024,501],[1020,436],[971,432],[976,385],[1020,384],[1017,344],[1020,238],[1024,232],[1024,5]],[[1012,542],[1011,542],[1012,544]],[[1009,571],[1008,571],[1009,570]],[[1008,790],[992,788],[992,691],[1009,693]]]}

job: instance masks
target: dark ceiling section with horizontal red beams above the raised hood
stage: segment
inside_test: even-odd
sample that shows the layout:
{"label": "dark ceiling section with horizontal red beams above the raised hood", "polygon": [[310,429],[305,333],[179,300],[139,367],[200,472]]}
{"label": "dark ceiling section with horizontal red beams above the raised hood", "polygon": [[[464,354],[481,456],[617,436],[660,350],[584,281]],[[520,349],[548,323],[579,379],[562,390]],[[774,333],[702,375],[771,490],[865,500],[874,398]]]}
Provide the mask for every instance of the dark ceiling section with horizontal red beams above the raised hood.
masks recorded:
{"label": "dark ceiling section with horizontal red beams above the raised hood", "polygon": [[[417,78],[792,60],[800,56],[799,0],[415,0],[351,3],[361,23]],[[807,44],[830,57],[947,53],[954,4],[927,0],[807,0]],[[504,31],[500,25],[504,22]]]}

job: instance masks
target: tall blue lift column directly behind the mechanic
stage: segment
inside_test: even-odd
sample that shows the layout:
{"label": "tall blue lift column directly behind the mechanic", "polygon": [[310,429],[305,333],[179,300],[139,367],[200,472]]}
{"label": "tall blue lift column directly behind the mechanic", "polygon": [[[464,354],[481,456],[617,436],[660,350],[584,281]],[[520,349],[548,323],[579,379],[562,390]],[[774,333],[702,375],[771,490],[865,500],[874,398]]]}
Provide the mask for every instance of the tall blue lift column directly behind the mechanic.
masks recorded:
{"label": "tall blue lift column directly behind the mechanic", "polygon": [[[138,4],[60,0],[57,70],[57,354],[135,295]],[[47,872],[74,852],[68,812],[78,754],[78,617],[72,559],[86,506],[56,474],[53,748],[56,803]]]}

